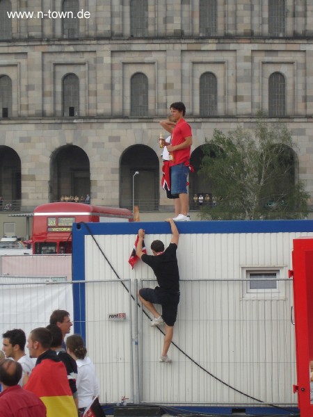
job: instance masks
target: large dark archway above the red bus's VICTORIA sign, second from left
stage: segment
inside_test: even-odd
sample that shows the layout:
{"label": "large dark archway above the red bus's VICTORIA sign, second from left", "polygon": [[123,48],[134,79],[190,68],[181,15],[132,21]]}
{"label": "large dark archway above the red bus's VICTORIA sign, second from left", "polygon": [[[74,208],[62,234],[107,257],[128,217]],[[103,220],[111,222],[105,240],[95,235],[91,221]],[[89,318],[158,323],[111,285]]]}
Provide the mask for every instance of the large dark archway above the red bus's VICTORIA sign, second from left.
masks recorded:
{"label": "large dark archway above the red bus's VICTORIA sign, second from left", "polygon": [[50,158],[49,201],[87,194],[90,195],[90,162],[86,152],[75,145],[56,149]]}

